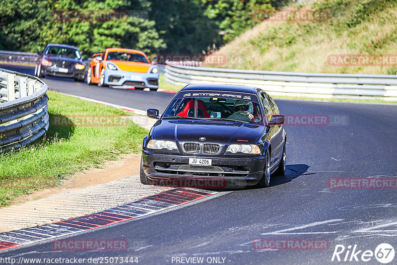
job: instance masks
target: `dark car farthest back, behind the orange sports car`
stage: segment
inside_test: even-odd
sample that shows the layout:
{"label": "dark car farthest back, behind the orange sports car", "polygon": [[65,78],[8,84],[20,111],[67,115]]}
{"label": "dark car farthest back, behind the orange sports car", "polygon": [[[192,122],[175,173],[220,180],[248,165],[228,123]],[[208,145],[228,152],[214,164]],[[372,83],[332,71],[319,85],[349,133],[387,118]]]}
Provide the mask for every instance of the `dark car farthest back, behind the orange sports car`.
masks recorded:
{"label": "dark car farthest back, behind the orange sports car", "polygon": [[39,58],[35,76],[52,75],[84,81],[86,64],[77,47],[63,44],[49,44]]}

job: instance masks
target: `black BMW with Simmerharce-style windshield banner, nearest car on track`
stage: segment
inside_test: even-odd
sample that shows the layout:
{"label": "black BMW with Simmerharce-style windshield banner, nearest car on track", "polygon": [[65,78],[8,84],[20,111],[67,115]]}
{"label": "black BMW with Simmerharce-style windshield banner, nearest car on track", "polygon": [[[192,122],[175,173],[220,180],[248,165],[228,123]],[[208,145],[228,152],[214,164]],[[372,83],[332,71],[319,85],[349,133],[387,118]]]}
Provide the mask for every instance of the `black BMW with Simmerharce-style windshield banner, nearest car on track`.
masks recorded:
{"label": "black BMW with Simmerharce-style windshield banner, nearest car on track", "polygon": [[260,88],[187,85],[147,116],[159,120],[143,139],[142,184],[262,188],[285,173],[285,117]]}

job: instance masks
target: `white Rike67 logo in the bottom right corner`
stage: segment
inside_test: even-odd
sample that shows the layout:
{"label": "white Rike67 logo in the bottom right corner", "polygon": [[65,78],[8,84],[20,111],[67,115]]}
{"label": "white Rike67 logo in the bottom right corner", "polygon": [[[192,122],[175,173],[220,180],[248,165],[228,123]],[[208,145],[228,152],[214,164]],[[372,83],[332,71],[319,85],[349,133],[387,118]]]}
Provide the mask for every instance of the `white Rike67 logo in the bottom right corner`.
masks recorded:
{"label": "white Rike67 logo in the bottom right corner", "polygon": [[382,263],[388,264],[394,260],[395,250],[392,245],[388,243],[379,244],[375,251],[372,250],[360,250],[357,245],[347,246],[336,245],[333,251],[331,262],[369,262],[375,259]]}

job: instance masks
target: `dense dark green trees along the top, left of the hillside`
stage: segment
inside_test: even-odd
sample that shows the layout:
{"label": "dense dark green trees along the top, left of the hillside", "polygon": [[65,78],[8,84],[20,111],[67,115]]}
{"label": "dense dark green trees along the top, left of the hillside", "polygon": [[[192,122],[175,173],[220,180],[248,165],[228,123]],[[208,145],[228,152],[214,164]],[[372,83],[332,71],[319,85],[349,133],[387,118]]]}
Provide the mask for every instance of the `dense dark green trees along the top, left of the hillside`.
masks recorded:
{"label": "dense dark green trees along the top, left of the hillside", "polygon": [[[42,51],[48,43],[80,48],[84,55],[107,47],[154,53],[199,53],[229,42],[258,23],[253,10],[288,0],[3,0],[0,49]],[[62,21],[61,10],[143,10],[124,20]]]}

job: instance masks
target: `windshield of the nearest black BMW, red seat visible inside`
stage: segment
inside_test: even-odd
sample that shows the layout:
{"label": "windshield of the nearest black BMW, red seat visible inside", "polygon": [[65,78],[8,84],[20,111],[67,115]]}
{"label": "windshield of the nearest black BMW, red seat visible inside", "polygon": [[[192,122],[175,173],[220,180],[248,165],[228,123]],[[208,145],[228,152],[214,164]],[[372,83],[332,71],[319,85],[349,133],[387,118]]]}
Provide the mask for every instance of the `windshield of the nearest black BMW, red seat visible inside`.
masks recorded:
{"label": "windshield of the nearest black BMW, red seat visible inside", "polygon": [[[253,98],[255,95],[251,95]],[[263,123],[260,105],[252,100],[226,97],[176,97],[164,112],[167,117],[229,119]]]}

